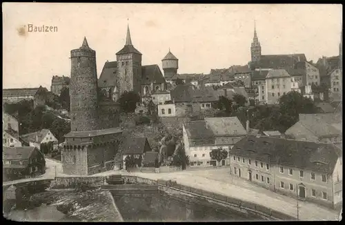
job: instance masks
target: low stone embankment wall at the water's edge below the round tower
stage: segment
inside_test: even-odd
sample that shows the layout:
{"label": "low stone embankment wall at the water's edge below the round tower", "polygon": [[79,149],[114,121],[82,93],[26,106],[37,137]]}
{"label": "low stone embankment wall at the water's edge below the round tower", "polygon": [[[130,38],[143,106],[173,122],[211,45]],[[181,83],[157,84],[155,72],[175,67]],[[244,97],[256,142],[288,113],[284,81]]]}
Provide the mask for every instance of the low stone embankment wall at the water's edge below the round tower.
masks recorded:
{"label": "low stone embankment wall at the water's edge below the round tower", "polygon": [[97,188],[104,184],[105,177],[55,177],[50,183],[52,189],[76,188],[81,185],[88,185],[90,188]]}

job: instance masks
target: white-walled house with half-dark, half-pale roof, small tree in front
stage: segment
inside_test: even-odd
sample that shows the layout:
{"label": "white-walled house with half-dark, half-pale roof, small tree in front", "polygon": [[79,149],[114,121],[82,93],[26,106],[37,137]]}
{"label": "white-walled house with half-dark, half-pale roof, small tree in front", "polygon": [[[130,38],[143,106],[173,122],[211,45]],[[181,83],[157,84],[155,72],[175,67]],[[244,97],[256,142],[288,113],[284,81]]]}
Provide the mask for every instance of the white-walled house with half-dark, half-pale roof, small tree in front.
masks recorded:
{"label": "white-walled house with half-dark, half-pale roof, small tree in front", "polygon": [[[237,117],[212,117],[184,124],[184,148],[190,157],[190,166],[216,166],[217,162],[210,158],[210,152],[217,148],[230,151],[246,135]],[[220,162],[221,166],[228,163],[228,159]]]}

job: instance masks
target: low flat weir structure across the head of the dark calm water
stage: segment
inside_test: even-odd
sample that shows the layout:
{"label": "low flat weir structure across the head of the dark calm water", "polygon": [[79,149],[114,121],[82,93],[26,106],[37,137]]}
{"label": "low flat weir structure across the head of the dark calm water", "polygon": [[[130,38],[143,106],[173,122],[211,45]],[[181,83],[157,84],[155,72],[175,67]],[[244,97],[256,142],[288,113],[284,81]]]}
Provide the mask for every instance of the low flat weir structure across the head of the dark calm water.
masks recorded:
{"label": "low flat weir structure across the head of the dark calm water", "polygon": [[159,193],[157,185],[146,184],[101,185],[101,190],[110,190],[113,195]]}

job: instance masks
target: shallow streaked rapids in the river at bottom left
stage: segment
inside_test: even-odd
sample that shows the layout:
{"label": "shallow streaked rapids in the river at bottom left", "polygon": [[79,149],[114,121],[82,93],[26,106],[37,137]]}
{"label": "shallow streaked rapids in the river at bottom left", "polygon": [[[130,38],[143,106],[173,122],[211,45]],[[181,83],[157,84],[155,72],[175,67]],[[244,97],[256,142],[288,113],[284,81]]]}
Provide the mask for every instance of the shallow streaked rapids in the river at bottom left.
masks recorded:
{"label": "shallow streaked rapids in the river at bottom left", "polygon": [[87,221],[121,222],[123,219],[114,206],[108,191],[47,190],[30,197],[36,207],[17,206],[10,211],[8,219],[15,221]]}

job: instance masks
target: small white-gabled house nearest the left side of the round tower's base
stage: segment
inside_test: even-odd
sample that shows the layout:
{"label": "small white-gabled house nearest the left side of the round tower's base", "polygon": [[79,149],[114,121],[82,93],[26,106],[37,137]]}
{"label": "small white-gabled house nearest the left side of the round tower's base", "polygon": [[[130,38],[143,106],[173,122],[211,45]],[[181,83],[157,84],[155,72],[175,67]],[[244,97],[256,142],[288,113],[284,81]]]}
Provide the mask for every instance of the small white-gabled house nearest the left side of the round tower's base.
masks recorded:
{"label": "small white-gabled house nearest the left side of the round tower's base", "polygon": [[53,149],[58,148],[57,138],[50,132],[50,130],[47,130],[47,129],[42,129],[34,133],[21,135],[21,140],[23,141],[24,146],[34,146],[34,147],[37,147],[38,149],[41,149],[41,144],[52,141]]}

